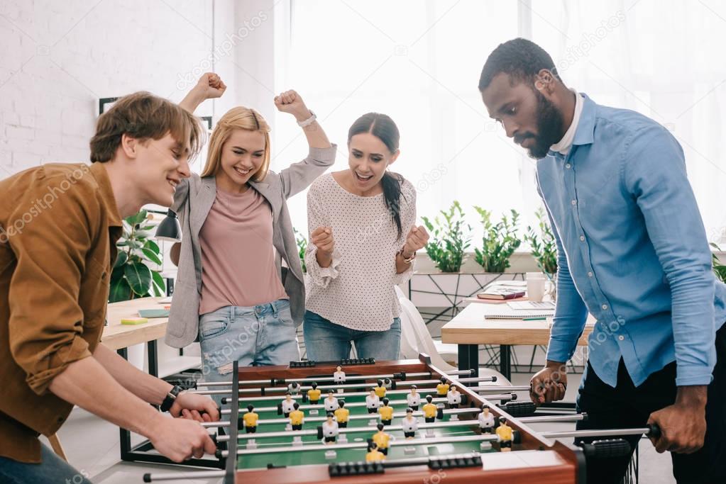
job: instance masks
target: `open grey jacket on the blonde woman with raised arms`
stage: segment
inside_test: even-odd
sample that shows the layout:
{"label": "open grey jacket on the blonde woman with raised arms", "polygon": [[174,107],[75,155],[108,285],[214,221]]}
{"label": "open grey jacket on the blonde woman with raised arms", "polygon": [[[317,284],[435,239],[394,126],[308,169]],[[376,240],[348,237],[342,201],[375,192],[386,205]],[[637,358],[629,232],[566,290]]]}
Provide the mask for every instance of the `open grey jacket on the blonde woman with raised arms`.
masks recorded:
{"label": "open grey jacket on the blonde woman with raised arms", "polygon": [[[280,174],[270,171],[264,181],[250,181],[250,186],[264,196],[272,207],[272,243],[277,250],[277,269],[280,270],[285,292],[290,296],[290,312],[297,325],[303,322],[305,314],[305,284],[287,199],[303,191],[333,165],[335,150],[335,145],[325,149],[311,148],[306,159],[290,165]],[[199,333],[199,301],[202,293],[199,231],[207,220],[216,193],[215,178],[200,178],[199,175],[181,180],[174,193],[171,209],[179,216],[181,223],[181,253],[165,341],[175,348],[184,348],[194,342]],[[280,256],[287,264],[285,271],[282,270]]]}

